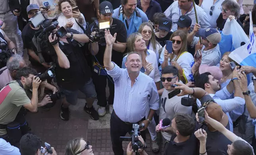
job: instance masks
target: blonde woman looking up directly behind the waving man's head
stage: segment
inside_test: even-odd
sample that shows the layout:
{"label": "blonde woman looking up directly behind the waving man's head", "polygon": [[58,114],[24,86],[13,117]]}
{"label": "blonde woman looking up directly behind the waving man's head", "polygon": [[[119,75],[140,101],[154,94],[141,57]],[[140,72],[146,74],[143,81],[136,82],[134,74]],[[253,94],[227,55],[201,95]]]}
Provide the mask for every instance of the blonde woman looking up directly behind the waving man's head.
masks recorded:
{"label": "blonde woman looking up directly behind the waving man's head", "polygon": [[[142,34],[138,32],[130,34],[130,36],[127,38],[126,45],[128,47],[129,53],[138,52],[141,55],[142,68],[140,71],[142,73],[145,73],[149,77],[151,77],[155,81],[157,90],[159,90],[160,89],[160,72],[158,69],[157,58],[154,51],[147,49],[146,43]],[[126,58],[127,58],[127,55],[123,58],[122,68],[126,68],[125,67]],[[148,116],[149,110],[150,109],[148,106],[145,113],[146,116]],[[155,131],[155,127],[156,127],[155,120],[152,119],[147,129],[149,130],[149,133],[151,135],[152,151],[158,152],[159,146],[157,144],[157,133]]]}

